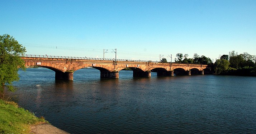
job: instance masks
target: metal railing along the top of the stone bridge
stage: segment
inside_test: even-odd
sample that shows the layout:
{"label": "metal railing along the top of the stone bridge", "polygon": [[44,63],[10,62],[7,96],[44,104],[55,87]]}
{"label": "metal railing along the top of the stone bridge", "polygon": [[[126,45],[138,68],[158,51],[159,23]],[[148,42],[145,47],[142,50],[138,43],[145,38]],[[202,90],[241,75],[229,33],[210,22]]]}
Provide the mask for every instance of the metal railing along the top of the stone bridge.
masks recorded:
{"label": "metal railing along the top of the stone bridge", "polygon": [[[22,56],[22,55],[20,55]],[[22,57],[33,57],[33,58],[58,58],[58,59],[81,59],[81,60],[109,60],[115,61],[115,59],[108,58],[88,58],[88,57],[75,57],[75,56],[52,56],[52,55],[36,55],[36,54],[24,54]],[[135,62],[151,62],[151,63],[159,63],[159,61],[147,61],[147,60],[126,60],[126,59],[117,59],[117,61],[135,61]]]}

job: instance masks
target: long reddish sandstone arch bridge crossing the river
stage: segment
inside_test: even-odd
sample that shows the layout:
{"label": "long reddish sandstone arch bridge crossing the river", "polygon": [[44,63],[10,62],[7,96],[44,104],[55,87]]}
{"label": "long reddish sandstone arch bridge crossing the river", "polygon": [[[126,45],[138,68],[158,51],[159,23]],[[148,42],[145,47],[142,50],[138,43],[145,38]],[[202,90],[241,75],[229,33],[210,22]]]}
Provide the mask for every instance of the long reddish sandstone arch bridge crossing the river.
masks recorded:
{"label": "long reddish sandstone arch bridge crossing the river", "polygon": [[42,66],[55,71],[56,79],[73,80],[73,73],[81,68],[100,70],[101,78],[119,78],[119,71],[129,68],[133,76],[151,77],[151,72],[158,76],[191,75],[209,73],[211,67],[202,64],[160,63],[158,61],[101,59],[70,56],[24,55],[21,57],[25,66]]}

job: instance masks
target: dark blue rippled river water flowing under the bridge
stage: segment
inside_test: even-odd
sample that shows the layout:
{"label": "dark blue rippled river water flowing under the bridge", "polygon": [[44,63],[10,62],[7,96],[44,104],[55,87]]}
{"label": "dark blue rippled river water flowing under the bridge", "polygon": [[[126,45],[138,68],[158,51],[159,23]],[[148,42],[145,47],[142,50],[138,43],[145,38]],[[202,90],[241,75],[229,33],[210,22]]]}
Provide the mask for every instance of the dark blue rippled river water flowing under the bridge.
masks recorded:
{"label": "dark blue rippled river water flowing under the bridge", "polygon": [[20,106],[71,134],[256,133],[256,78],[191,75],[101,79],[80,69],[74,81],[46,68],[19,71],[10,93]]}

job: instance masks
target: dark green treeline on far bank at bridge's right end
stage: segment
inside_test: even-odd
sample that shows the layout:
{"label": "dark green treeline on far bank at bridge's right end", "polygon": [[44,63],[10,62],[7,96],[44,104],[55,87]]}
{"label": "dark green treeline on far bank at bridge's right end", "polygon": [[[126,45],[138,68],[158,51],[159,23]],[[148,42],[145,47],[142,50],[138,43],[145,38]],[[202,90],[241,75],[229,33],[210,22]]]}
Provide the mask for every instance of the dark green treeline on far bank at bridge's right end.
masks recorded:
{"label": "dark green treeline on far bank at bridge's right end", "polygon": [[[176,54],[175,63],[212,65],[212,73],[215,74],[256,76],[256,56],[247,52],[238,54],[231,51],[228,55],[220,56],[215,63],[204,55],[194,54],[193,58],[188,56],[188,54]],[[162,58],[161,62],[167,63],[166,58]]]}

